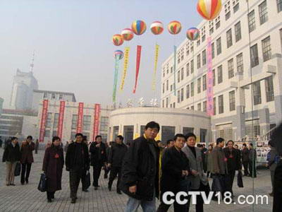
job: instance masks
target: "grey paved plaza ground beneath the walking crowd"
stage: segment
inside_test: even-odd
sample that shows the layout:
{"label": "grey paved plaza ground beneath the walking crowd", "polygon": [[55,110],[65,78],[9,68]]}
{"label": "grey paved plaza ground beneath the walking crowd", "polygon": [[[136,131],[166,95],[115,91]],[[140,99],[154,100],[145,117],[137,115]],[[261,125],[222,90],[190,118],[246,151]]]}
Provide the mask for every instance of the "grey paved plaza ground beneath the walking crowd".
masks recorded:
{"label": "grey paved plaza ground beneath the walking crowd", "polygon": [[[2,158],[3,149],[0,149],[0,157]],[[16,187],[6,187],[5,175],[6,165],[0,163],[0,211],[124,211],[127,196],[125,194],[116,194],[116,181],[113,185],[113,191],[109,192],[107,189],[107,180],[104,179],[104,172],[99,179],[99,190],[94,191],[90,187],[90,192],[81,192],[81,184],[78,189],[78,201],[76,204],[71,204],[70,189],[68,184],[68,172],[64,169],[62,179],[62,190],[56,192],[54,201],[47,203],[46,193],[37,190],[39,182],[39,175],[42,172],[42,158],[44,151],[39,151],[37,155],[34,154],[35,163],[32,164],[30,173],[30,183],[27,185],[20,184],[20,177],[16,177]],[[91,169],[92,170],[92,169]],[[252,179],[244,177],[244,188],[237,187],[235,177],[234,192],[235,197],[239,194],[252,194]],[[210,181],[211,184],[211,181]],[[271,182],[269,170],[259,170],[258,177],[255,179],[255,194],[268,194],[271,189]],[[159,205],[159,202],[157,203]],[[250,212],[252,206],[247,205],[224,205],[220,206],[216,202],[212,202],[209,206],[204,206],[204,211],[209,212]],[[254,207],[255,212],[272,211],[272,198],[269,197],[269,205],[257,205]],[[141,210],[140,210],[141,211]],[[171,210],[173,211],[173,207]],[[190,211],[195,211],[195,207],[191,206]]]}

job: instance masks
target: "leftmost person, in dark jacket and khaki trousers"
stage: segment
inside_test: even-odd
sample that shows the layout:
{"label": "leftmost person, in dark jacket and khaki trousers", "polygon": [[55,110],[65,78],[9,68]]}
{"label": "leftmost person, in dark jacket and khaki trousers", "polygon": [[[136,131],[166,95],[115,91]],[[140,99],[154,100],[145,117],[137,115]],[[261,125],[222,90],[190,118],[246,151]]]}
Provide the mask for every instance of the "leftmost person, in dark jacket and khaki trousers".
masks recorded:
{"label": "leftmost person, in dark jacket and khaki trousers", "polygon": [[15,186],[15,169],[16,164],[20,160],[20,146],[18,145],[18,138],[12,137],[11,143],[6,146],[2,162],[6,162],[6,186]]}

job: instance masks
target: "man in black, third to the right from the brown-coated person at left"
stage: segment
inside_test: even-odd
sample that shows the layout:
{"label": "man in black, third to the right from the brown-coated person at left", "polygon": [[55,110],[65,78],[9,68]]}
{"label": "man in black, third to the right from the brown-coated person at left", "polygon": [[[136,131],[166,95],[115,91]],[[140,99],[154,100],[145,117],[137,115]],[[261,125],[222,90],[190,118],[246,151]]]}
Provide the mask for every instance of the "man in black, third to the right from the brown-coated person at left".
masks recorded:
{"label": "man in black, third to the right from the brown-coated person at left", "polygon": [[106,165],[106,145],[102,143],[102,136],[96,136],[95,142],[90,145],[91,165],[93,166],[93,186],[97,190],[101,170]]}

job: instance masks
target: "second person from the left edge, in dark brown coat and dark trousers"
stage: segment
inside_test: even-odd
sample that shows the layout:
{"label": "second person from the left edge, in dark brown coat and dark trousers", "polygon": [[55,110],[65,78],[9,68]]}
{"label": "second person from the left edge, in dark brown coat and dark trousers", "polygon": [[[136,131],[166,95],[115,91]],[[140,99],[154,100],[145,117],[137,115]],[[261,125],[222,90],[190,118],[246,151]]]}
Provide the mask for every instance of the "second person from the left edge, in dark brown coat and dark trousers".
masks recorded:
{"label": "second person from the left edge, in dark brown coat and dark trousers", "polygon": [[22,170],[20,174],[20,183],[28,184],[28,178],[30,177],[31,165],[34,162],[32,151],[35,150],[35,143],[32,142],[32,136],[27,136],[26,141],[23,141],[20,147],[20,163]]}

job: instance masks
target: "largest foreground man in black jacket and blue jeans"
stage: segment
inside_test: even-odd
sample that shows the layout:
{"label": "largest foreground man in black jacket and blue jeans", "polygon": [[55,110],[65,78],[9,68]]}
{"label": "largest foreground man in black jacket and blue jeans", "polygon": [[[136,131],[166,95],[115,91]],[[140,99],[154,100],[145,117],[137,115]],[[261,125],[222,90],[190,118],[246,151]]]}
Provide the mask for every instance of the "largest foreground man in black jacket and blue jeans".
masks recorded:
{"label": "largest foreground man in black jacket and blue jeans", "polygon": [[122,167],[122,191],[129,199],[126,212],[156,211],[159,196],[159,147],[154,140],[159,133],[159,124],[149,122],[144,135],[130,143]]}

